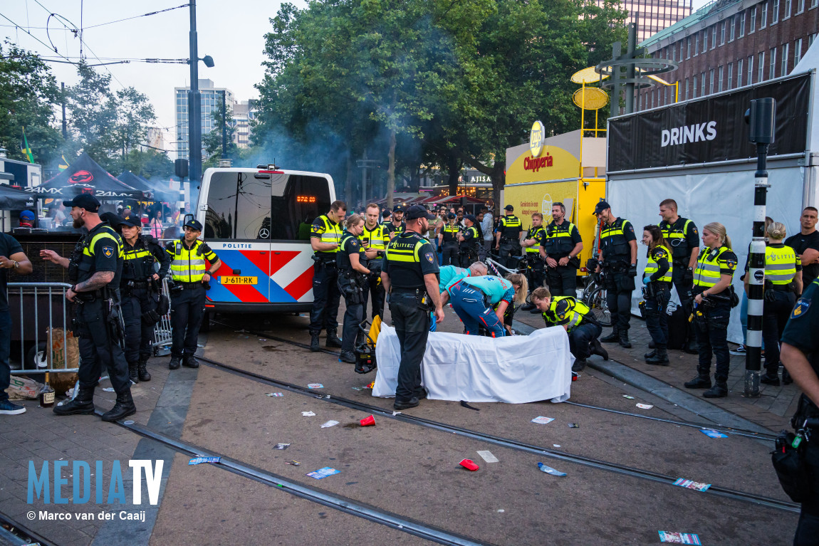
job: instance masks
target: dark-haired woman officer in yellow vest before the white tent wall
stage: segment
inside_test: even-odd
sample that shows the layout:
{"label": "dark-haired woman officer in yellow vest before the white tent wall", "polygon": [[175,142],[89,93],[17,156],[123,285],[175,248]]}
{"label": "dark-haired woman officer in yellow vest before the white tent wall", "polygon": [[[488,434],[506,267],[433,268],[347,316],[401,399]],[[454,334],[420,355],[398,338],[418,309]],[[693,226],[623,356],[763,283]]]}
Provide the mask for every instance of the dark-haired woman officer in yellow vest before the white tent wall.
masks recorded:
{"label": "dark-haired woman officer in yellow vest before the white tent wall", "polygon": [[643,270],[645,327],[654,341],[654,350],[645,354],[645,363],[668,365],[668,315],[666,305],[671,296],[674,264],[671,250],[658,226],[643,228],[643,244],[649,247]]}

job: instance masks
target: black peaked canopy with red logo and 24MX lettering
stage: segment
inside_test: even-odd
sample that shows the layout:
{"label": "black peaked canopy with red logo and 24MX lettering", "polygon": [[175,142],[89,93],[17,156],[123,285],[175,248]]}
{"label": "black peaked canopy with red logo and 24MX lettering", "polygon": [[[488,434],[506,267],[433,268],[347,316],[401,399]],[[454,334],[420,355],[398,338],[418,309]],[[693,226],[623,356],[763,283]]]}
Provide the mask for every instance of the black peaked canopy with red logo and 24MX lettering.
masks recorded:
{"label": "black peaked canopy with red logo and 24MX lettering", "polygon": [[48,182],[39,186],[27,187],[26,192],[43,197],[62,197],[69,199],[79,193],[92,193],[97,199],[120,199],[131,197],[143,198],[142,190],[124,184],[97,165],[97,162],[84,153],[74,160],[68,169],[57,174]]}

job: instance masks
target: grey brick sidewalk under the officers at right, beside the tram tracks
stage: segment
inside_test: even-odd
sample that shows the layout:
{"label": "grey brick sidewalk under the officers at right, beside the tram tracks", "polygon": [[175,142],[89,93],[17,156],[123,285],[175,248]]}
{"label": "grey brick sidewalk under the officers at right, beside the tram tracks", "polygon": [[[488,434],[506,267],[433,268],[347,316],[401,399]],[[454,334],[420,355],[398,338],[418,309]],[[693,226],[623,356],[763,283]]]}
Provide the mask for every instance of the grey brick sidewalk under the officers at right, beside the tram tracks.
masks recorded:
{"label": "grey brick sidewalk under the officers at right, beside the tram tracks", "polygon": [[[530,314],[526,311],[518,311],[515,314],[515,320],[532,327],[544,326],[541,315]],[[609,332],[611,332],[610,328],[604,328],[602,336],[608,335]],[[649,332],[645,327],[645,321],[634,316],[631,317],[629,339],[632,345],[631,349],[623,349],[618,344],[605,343],[604,347],[609,351],[609,358],[691,395],[702,397],[702,390],[689,390],[683,386],[683,383],[697,374],[696,354],[686,354],[681,350],[669,350],[670,365],[651,366],[646,364],[643,355],[649,351],[651,336],[649,336]],[[730,346],[732,349],[735,347],[733,344],[730,344]],[[714,364],[712,363],[712,373],[713,370]],[[796,411],[796,405],[799,402],[799,389],[795,385],[760,385],[758,398],[745,398],[743,395],[744,376],[744,356],[731,355],[728,395],[725,398],[701,399],[749,421],[756,422],[758,425],[765,426],[771,431],[778,432],[784,428],[790,428],[790,417]]]}

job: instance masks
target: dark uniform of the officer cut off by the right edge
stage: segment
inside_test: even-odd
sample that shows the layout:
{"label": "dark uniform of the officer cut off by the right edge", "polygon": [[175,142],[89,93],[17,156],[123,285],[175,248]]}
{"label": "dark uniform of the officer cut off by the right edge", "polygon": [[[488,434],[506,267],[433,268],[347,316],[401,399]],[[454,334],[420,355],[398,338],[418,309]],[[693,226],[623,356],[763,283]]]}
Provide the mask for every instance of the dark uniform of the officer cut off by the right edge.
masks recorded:
{"label": "dark uniform of the officer cut off by the right edge", "polygon": [[[796,301],[782,334],[782,343],[794,346],[808,358],[813,372],[819,375],[819,279],[814,280]],[[802,395],[791,423],[799,429],[808,417],[819,417],[819,407]],[[809,476],[809,499],[803,501],[796,527],[794,546],[817,544],[819,537],[819,430],[812,429],[803,449],[802,462]]]}

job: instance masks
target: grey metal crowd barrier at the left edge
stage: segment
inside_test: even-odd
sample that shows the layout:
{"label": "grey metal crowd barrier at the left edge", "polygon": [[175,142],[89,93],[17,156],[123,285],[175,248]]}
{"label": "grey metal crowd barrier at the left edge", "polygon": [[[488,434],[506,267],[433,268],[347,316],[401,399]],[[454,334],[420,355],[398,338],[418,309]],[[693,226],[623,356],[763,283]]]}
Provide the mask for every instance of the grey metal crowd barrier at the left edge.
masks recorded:
{"label": "grey metal crowd barrier at the left edge", "polygon": [[[19,318],[17,321],[12,320],[11,341],[20,342],[20,369],[11,370],[11,373],[79,371],[79,350],[76,352],[76,366],[69,367],[68,341],[71,318],[66,291],[70,287],[71,285],[65,282],[8,284],[11,317]],[[31,346],[32,342],[33,348],[26,351],[25,348]],[[44,345],[43,350],[40,350],[41,342]],[[29,364],[27,352],[34,355],[34,368],[26,367]],[[60,353],[61,362],[59,360],[55,362]]]}

